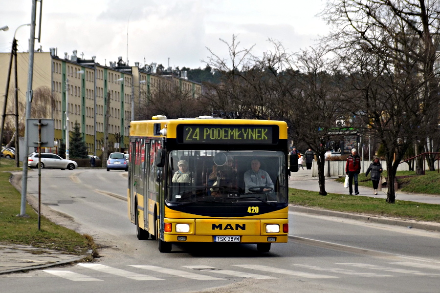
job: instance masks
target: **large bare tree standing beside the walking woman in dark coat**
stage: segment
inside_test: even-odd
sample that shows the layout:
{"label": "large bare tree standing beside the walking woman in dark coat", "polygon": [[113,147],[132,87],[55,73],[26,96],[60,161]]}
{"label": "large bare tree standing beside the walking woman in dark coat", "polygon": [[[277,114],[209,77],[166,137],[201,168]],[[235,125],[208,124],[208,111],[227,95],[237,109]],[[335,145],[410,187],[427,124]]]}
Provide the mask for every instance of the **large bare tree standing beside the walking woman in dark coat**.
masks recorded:
{"label": "large bare tree standing beside the walking woman in dark coat", "polygon": [[[440,3],[426,0],[332,0],[324,13],[335,32],[324,39],[351,73],[353,113],[384,146],[387,202],[395,202],[394,178],[409,145],[425,145],[438,131]],[[418,165],[420,162],[418,162]]]}

